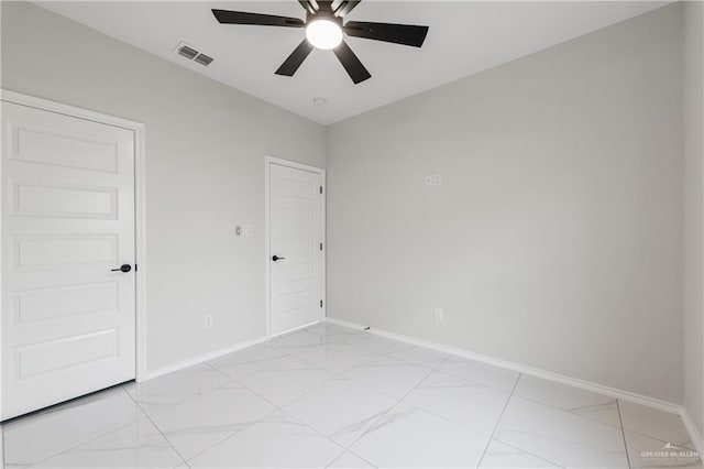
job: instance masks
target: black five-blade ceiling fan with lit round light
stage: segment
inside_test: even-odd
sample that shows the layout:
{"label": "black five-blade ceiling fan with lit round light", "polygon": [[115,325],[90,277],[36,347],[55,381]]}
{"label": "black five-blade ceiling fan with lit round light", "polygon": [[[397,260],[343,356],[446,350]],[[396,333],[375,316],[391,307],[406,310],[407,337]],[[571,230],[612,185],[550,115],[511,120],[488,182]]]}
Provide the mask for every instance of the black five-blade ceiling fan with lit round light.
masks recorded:
{"label": "black five-blade ceiling fan with lit round light", "polygon": [[420,47],[428,34],[428,26],[370,23],[366,21],[348,21],[345,23],[344,17],[360,2],[361,0],[298,0],[298,3],[306,9],[306,21],[290,17],[215,9],[212,14],[222,24],[305,28],[306,37],[278,67],[275,72],[276,75],[294,76],[314,48],[332,50],[356,85],[371,78],[372,75],[343,41],[344,34],[414,47]]}

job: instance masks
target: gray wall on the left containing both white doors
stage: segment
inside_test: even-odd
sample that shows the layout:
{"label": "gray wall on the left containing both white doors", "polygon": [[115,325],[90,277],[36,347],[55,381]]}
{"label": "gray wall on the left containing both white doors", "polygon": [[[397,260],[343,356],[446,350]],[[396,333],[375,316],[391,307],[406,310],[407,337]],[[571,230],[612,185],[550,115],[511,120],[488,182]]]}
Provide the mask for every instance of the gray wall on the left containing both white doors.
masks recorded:
{"label": "gray wall on the left containing both white doors", "polygon": [[322,127],[28,2],[2,87],[146,124],[150,370],[265,335],[264,155],[323,166]]}

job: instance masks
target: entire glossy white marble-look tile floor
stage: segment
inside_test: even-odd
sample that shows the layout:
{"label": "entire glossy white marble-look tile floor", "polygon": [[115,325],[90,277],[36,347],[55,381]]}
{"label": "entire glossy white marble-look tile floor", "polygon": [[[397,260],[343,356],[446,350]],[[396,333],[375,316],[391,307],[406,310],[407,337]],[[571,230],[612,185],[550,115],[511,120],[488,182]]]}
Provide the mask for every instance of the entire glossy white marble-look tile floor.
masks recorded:
{"label": "entire glossy white marble-look tile floor", "polygon": [[675,415],[329,323],[2,435],[7,467],[47,468],[640,468],[691,447]]}

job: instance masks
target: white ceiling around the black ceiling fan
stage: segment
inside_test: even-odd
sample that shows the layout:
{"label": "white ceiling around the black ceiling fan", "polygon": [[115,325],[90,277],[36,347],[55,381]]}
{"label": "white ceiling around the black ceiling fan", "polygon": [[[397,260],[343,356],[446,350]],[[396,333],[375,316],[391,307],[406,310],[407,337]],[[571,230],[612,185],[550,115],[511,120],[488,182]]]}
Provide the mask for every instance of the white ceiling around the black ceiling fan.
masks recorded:
{"label": "white ceiling around the black ceiling fan", "polygon": [[[377,1],[348,20],[430,26],[422,48],[348,37],[372,78],[353,85],[332,52],[314,51],[293,78],[274,75],[302,29],[221,25],[210,9],[305,18],[295,1],[37,2],[121,41],[327,124],[645,13],[656,1]],[[212,56],[176,55],[179,42]],[[316,106],[323,97],[328,103]]]}

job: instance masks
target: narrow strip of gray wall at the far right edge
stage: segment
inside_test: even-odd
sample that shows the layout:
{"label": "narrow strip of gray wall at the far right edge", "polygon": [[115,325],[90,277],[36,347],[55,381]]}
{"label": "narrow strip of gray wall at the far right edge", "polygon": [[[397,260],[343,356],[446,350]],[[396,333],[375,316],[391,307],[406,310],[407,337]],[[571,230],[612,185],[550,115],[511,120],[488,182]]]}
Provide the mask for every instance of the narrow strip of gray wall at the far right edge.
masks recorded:
{"label": "narrow strip of gray wall at the far right edge", "polygon": [[704,3],[684,19],[684,406],[704,435]]}

